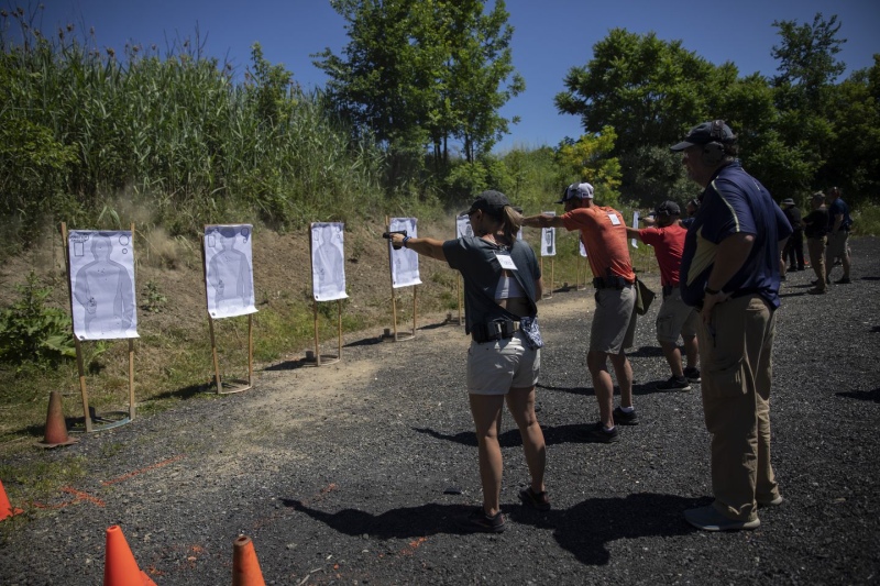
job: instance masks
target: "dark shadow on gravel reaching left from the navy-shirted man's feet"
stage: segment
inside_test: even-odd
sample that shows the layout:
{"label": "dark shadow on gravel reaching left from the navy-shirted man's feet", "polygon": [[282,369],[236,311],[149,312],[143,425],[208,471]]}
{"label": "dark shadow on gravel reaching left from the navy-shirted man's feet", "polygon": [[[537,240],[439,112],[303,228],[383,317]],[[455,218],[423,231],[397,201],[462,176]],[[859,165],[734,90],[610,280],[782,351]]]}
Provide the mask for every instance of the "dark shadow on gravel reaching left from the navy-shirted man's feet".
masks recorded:
{"label": "dark shadow on gravel reaching left from the navy-shirted man's feet", "polygon": [[[510,519],[540,529],[553,529],[559,545],[586,565],[610,561],[607,543],[619,539],[668,538],[696,531],[684,510],[712,502],[673,495],[642,493],[625,498],[591,498],[565,510],[538,512],[518,508]],[[625,560],[620,561],[626,563]]]}

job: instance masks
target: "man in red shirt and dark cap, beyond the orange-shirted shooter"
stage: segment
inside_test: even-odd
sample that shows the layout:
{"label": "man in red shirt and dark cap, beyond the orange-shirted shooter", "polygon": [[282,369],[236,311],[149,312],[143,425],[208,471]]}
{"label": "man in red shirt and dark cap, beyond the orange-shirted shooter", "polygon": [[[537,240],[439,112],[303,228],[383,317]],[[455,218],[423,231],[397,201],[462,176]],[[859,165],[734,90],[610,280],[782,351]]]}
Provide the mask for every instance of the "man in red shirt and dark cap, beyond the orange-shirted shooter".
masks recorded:
{"label": "man in red shirt and dark cap, beyond the orange-shirted shooter", "polygon": [[[657,264],[660,265],[660,285],[663,286],[663,305],[657,314],[657,341],[663,349],[672,376],[657,385],[657,390],[691,390],[690,383],[700,383],[696,368],[697,344],[696,327],[700,319],[694,308],[681,299],[679,269],[681,253],[684,250],[684,235],[688,230],[681,225],[681,208],[674,201],[664,201],[654,213],[657,222],[650,228],[636,230],[627,228],[630,237],[639,239],[653,246]],[[682,371],[679,334],[684,343],[688,368]]]}

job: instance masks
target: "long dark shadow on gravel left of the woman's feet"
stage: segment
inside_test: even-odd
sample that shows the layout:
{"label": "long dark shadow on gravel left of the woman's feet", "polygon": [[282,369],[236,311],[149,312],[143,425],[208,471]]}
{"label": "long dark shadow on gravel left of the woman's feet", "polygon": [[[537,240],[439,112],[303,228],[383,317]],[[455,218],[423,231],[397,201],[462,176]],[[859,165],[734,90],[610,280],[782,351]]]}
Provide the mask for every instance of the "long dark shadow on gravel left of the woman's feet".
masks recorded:
{"label": "long dark shadow on gravel left of the woman's feet", "polygon": [[305,512],[316,521],[352,537],[370,535],[378,539],[408,539],[437,533],[469,534],[473,531],[459,527],[459,523],[474,510],[466,505],[437,505],[391,509],[382,515],[372,515],[358,509],[342,509],[339,512],[324,512],[314,509],[302,501],[283,498],[285,507]]}

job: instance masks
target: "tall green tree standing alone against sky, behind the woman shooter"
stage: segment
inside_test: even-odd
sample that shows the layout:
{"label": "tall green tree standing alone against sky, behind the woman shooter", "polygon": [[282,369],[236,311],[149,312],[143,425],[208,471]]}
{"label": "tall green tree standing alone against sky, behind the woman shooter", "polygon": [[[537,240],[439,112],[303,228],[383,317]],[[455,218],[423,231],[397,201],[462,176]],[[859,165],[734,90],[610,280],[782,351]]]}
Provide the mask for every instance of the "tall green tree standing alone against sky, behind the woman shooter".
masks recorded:
{"label": "tall green tree standing alone against sky, behind the woman shooter", "polygon": [[374,133],[398,170],[429,145],[447,162],[450,140],[475,163],[508,131],[498,110],[525,85],[512,66],[504,1],[488,14],[485,4],[332,0],[350,42],[342,56],[328,48],[315,64],[330,78],[328,96],[339,111]]}

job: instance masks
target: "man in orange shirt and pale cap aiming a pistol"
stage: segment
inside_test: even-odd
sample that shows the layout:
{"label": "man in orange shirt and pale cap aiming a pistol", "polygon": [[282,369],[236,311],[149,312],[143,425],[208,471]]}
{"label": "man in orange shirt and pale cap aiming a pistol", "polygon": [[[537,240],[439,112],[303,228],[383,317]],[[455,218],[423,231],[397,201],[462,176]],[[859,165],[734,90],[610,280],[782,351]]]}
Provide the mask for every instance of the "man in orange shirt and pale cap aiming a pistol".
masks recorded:
{"label": "man in orange shirt and pale cap aiming a pistol", "polygon": [[[587,261],[596,288],[596,314],[590,330],[590,351],[586,365],[598,401],[600,422],[588,432],[595,442],[616,442],[615,421],[636,424],[632,407],[632,367],[624,350],[632,346],[636,333],[636,274],[629,259],[626,222],[613,208],[593,201],[593,186],[572,184],[557,203],[565,206],[562,215],[531,215],[522,220],[531,228],[564,228],[580,230],[581,241],[590,253]],[[620,386],[620,406],[614,406],[614,382],[608,361]]]}

